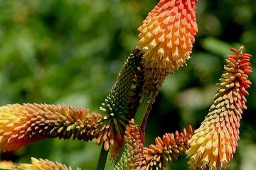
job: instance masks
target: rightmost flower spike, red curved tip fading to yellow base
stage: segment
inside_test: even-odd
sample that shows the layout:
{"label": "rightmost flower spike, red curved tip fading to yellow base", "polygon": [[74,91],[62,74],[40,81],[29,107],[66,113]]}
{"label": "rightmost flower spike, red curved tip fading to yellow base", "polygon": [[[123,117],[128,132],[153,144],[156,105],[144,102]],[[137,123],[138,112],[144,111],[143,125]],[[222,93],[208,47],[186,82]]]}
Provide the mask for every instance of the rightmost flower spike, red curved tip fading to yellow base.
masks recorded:
{"label": "rightmost flower spike, red curved tip fading to yellow base", "polygon": [[213,105],[188,142],[191,169],[225,168],[238,147],[242,110],[247,108],[246,89],[251,84],[247,74],[252,72],[251,55],[242,53],[242,50],[243,47],[231,49],[235,54],[225,60],[227,64],[217,84]]}

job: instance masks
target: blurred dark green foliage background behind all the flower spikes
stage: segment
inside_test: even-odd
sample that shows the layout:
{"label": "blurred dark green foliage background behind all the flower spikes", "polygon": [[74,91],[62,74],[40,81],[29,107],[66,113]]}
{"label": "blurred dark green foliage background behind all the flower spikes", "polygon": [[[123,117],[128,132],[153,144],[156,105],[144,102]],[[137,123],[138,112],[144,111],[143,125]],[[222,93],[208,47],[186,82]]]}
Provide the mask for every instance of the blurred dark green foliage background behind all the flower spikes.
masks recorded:
{"label": "blurred dark green foliage background behind all the flower spikes", "polygon": [[[137,28],[157,0],[0,0],[0,104],[65,103],[98,111],[137,42]],[[198,128],[213,102],[230,47],[256,54],[255,0],[199,0],[198,35],[187,67],[171,74],[149,116],[146,143],[164,132]],[[228,169],[256,167],[256,73],[240,141]],[[95,169],[95,142],[43,140],[2,159],[30,157]],[[171,169],[188,169],[185,157]]]}

